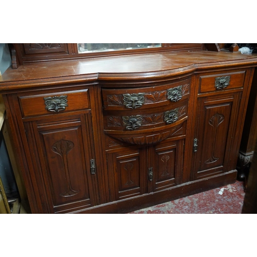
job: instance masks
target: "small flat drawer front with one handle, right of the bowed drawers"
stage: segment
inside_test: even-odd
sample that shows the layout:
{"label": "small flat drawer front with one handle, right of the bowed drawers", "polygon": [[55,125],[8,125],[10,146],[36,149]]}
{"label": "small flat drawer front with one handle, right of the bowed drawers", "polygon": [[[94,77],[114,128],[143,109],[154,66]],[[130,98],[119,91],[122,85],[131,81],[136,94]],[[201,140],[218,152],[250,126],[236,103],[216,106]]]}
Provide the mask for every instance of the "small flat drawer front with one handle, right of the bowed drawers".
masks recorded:
{"label": "small flat drawer front with one handle, right of the bowed drawers", "polygon": [[246,71],[227,72],[215,75],[200,76],[200,92],[240,88],[244,85]]}

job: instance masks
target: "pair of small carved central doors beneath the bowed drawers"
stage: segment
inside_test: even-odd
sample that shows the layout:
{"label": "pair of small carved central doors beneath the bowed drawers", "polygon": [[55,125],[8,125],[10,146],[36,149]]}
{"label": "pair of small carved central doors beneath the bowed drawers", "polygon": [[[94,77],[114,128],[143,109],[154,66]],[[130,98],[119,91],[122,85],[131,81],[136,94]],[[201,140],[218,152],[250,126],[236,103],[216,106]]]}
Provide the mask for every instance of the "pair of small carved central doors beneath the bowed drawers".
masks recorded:
{"label": "pair of small carved central doors beneath the bowed drawers", "polygon": [[114,183],[111,187],[112,200],[178,185],[182,175],[183,144],[182,139],[108,154],[109,177],[114,177],[114,180],[109,180]]}

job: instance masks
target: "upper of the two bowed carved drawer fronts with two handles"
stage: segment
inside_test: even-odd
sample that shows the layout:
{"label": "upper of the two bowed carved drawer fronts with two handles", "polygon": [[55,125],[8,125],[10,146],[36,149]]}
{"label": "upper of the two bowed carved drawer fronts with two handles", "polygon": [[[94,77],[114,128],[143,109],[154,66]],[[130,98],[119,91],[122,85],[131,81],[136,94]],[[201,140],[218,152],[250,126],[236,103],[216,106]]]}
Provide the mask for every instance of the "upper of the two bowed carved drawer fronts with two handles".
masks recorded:
{"label": "upper of the two bowed carved drawer fronts with two handles", "polygon": [[190,79],[173,84],[129,89],[102,89],[105,111],[145,109],[186,99],[190,94]]}

